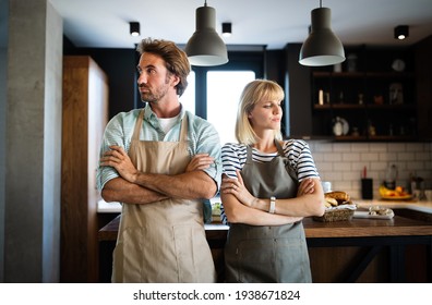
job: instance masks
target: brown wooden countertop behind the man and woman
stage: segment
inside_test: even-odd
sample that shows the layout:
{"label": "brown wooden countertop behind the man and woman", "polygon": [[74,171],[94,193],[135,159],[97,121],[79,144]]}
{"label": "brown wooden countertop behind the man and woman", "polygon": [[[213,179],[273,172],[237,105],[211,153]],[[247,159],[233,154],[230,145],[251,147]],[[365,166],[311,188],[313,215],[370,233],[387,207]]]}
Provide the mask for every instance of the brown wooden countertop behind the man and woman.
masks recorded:
{"label": "brown wooden countertop behind the man and woman", "polygon": [[[115,218],[98,232],[99,241],[116,241],[120,216]],[[432,221],[423,221],[395,216],[389,220],[358,219],[349,221],[320,222],[304,218],[303,225],[308,239],[316,237],[372,237],[372,236],[405,236],[432,235]],[[225,239],[227,225],[206,225],[208,240]]]}

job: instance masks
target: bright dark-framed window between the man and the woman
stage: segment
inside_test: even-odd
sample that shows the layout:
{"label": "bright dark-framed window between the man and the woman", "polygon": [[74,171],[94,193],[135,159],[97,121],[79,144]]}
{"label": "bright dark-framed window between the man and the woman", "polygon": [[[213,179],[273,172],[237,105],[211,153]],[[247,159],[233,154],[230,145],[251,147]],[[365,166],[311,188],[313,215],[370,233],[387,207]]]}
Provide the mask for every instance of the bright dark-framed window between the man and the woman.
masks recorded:
{"label": "bright dark-framed window between the man and the woman", "polygon": [[230,53],[227,64],[193,66],[180,101],[216,127],[221,145],[237,142],[235,125],[240,94],[249,82],[263,74],[263,52]]}

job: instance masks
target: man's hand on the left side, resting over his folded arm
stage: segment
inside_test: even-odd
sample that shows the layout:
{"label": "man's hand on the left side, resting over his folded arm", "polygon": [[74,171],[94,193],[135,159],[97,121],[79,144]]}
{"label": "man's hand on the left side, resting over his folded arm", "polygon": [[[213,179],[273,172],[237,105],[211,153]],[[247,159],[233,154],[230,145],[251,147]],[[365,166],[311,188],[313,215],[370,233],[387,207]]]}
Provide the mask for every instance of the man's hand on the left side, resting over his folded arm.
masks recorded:
{"label": "man's hand on the left side, resting over his folded arm", "polygon": [[104,152],[100,158],[100,166],[112,167],[117,172],[128,182],[135,183],[137,170],[133,166],[131,158],[121,146],[112,145],[109,147],[111,150]]}

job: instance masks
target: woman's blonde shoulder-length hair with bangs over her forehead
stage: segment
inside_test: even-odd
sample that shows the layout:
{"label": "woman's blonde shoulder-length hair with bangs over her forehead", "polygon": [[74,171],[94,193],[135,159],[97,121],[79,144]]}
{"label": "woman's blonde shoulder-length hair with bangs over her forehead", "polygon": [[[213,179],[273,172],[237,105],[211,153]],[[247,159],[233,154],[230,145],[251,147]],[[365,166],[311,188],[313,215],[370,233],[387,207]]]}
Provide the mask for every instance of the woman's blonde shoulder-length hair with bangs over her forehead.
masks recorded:
{"label": "woman's blonde shoulder-length hair with bangs over her forehead", "polygon": [[[255,80],[245,85],[239,101],[236,121],[236,138],[239,143],[253,145],[259,141],[248,118],[249,113],[261,100],[281,101],[285,98],[284,89],[276,82]],[[283,139],[280,130],[275,130],[276,139]]]}

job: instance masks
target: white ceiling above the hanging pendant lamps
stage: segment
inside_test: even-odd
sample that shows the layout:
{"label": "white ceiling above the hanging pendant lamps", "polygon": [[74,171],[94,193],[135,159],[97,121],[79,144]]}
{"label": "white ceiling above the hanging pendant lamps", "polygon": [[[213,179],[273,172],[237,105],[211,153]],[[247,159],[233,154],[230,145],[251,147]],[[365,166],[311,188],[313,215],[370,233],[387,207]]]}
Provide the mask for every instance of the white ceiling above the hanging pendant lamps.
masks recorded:
{"label": "white ceiling above the hanging pendant lamps", "polygon": [[[64,20],[64,34],[76,47],[134,48],[144,37],[185,45],[195,30],[195,10],[205,0],[50,0]],[[216,10],[216,30],[232,23],[227,45],[265,45],[281,49],[308,36],[311,10],[320,0],[207,0]],[[344,45],[412,45],[432,35],[432,0],[324,0],[332,28]],[[141,36],[129,35],[129,22]],[[409,25],[404,41],[394,27]]]}

